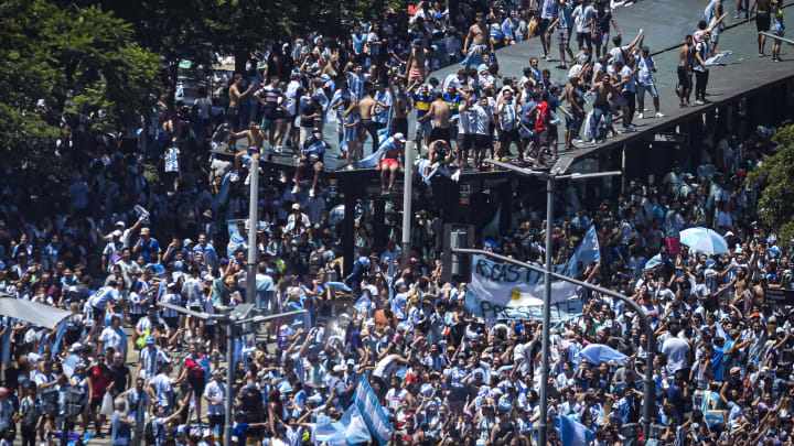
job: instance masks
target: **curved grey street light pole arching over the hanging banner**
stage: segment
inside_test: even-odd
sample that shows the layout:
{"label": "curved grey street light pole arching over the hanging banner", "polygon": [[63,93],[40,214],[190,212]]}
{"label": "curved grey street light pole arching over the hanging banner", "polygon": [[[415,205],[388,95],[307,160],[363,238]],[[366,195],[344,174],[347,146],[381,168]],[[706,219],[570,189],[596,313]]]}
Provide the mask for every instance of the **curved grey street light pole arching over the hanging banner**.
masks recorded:
{"label": "curved grey street light pole arching over the hanging banner", "polygon": [[[643,326],[645,327],[645,350],[647,351],[647,355],[645,356],[645,383],[643,387],[643,439],[647,440],[651,437],[651,418],[652,418],[652,409],[654,406],[654,382],[653,382],[653,361],[654,357],[656,355],[656,335],[654,334],[653,327],[651,326],[651,319],[648,319],[647,314],[645,313],[645,309],[640,306],[636,302],[632,301],[631,297],[625,296],[620,293],[615,293],[612,290],[608,290],[598,285],[593,285],[592,283],[582,282],[580,280],[576,280],[572,278],[569,278],[567,275],[562,275],[556,272],[549,272],[546,268],[539,268],[532,263],[522,262],[508,257],[500,255],[496,253],[493,253],[491,251],[485,251],[482,249],[469,249],[469,248],[453,248],[453,252],[459,254],[476,254],[482,257],[487,257],[494,260],[498,260],[501,262],[505,263],[512,263],[517,266],[526,268],[532,271],[541,272],[544,274],[548,274],[554,279],[558,279],[565,282],[572,283],[575,285],[581,286],[583,289],[592,290],[597,293],[616,298],[619,301],[624,302],[626,305],[632,307],[640,316],[640,319],[643,322]],[[548,278],[547,275],[547,278]],[[545,284],[544,284],[545,285]],[[546,338],[544,338],[546,339]],[[545,382],[540,383],[540,391],[544,392]],[[543,400],[541,400],[543,403]],[[543,413],[543,412],[540,412]],[[541,416],[543,420],[543,416]],[[538,425],[538,443],[539,443],[539,436],[540,436],[540,425]]]}

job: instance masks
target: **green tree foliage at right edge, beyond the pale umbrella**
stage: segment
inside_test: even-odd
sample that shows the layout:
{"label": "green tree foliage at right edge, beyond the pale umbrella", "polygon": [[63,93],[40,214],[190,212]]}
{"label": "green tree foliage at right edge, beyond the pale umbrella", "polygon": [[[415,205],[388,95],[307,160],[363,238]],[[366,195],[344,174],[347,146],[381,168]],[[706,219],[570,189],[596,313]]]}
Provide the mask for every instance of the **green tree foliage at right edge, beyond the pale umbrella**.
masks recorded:
{"label": "green tree foliage at right edge, beyond the pale umbrella", "polygon": [[777,233],[782,248],[794,238],[794,126],[780,129],[773,140],[780,150],[754,167],[748,181],[763,187],[758,202],[761,220]]}

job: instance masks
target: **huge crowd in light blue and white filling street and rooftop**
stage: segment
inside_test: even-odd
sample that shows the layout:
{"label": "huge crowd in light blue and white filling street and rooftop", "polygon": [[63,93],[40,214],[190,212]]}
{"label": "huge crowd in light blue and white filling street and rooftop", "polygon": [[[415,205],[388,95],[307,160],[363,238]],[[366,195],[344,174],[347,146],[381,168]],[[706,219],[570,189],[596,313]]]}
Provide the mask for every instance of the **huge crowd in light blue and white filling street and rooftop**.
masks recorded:
{"label": "huge crowd in light blue and white filling street and rooftop", "polygon": [[[214,446],[223,444],[228,400],[234,445],[322,444],[318,426],[343,417],[362,381],[377,395],[394,445],[532,445],[541,416],[550,445],[568,440],[562,416],[590,429],[590,443],[629,444],[637,436],[645,380],[654,383],[659,442],[790,444],[794,313],[766,302],[764,289],[791,286],[793,252],[758,222],[763,180],[744,180],[777,149],[765,129],[742,140],[707,131],[701,164],[690,172],[675,165],[654,184],[631,180],[622,191],[604,184],[596,197],[580,183],[566,184],[555,199],[560,217],[549,225],[545,204],[534,206],[528,192],[514,202],[509,231],[476,237],[478,246],[543,264],[551,230],[560,264],[593,228],[600,260],[582,264],[577,278],[630,296],[652,320],[658,351],[648,370],[637,314],[578,290],[582,313],[551,327],[547,413],[538,402],[540,324],[472,315],[468,278],[441,261],[437,206],[419,204],[404,252],[398,209],[389,202],[378,215],[374,199],[360,200],[355,260],[343,271],[340,197],[318,181],[329,146],[324,124],[336,123],[347,151],[340,155],[351,165],[367,160],[363,142],[372,139],[385,191],[405,162],[411,108],[418,150],[427,153],[418,163],[425,180],[450,160],[468,164],[469,150],[478,167],[487,150],[506,157],[512,143],[534,160],[556,154],[552,111],[568,119],[570,148],[588,90],[596,97],[594,139],[613,130],[614,113],[631,128],[634,94],[657,98],[653,59],[642,32],[623,44],[608,6],[589,3],[461,1],[458,14],[438,2],[419,4],[405,34],[387,14],[356,24],[347,42],[311,35],[273,45],[261,68],[253,63],[194,104],[172,108],[167,94],[153,126],[104,134],[81,118],[60,145],[72,162],[67,175],[41,177],[3,164],[2,298],[69,315],[56,328],[2,315],[0,445],[109,436],[114,445]],[[682,50],[686,76],[697,67],[691,57],[702,66],[717,43],[710,33],[726,11],[712,3],[712,17],[687,44],[700,50]],[[762,0],[751,10],[763,8],[777,17]],[[566,85],[538,67],[552,51],[552,30],[569,69]],[[502,76],[493,51],[532,36],[544,42],[544,57],[532,59],[518,81]],[[459,73],[432,78],[434,67],[459,62]],[[384,129],[388,138],[378,134]],[[237,139],[249,149],[223,153]],[[243,220],[248,160],[287,145],[298,174],[261,173],[259,225],[251,228]],[[376,218],[386,219],[379,236]],[[682,243],[680,232],[694,227],[717,231],[729,252]],[[246,294],[249,281],[255,296]],[[227,351],[215,320],[160,303],[208,314],[243,303],[262,314],[305,313],[247,327]],[[624,360],[579,355],[589,345]]]}

